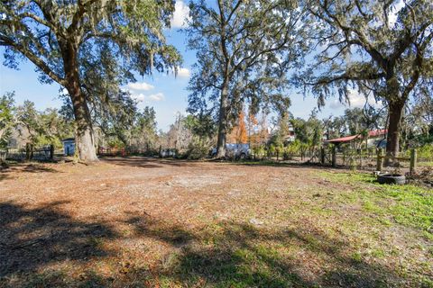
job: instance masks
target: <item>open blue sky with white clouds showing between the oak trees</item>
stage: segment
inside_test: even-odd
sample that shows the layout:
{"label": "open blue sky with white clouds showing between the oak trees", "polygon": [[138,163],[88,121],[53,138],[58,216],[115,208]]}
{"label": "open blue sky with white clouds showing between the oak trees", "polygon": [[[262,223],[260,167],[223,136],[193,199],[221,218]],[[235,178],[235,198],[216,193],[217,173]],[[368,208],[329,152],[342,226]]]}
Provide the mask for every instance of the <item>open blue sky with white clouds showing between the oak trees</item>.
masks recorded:
{"label": "open blue sky with white clouds showing between the oak trees", "polygon": [[[191,67],[195,63],[195,52],[186,48],[185,35],[179,31],[185,17],[188,15],[188,6],[182,2],[176,2],[176,12],[171,26],[166,31],[168,43],[179,49],[184,64],[180,68],[177,77],[173,74],[154,73],[152,76],[139,77],[137,83],[125,86],[130,90],[133,97],[139,100],[139,107],[153,106],[156,111],[158,128],[168,130],[170,124],[175,120],[176,113],[185,113],[187,107],[188,91],[187,85],[191,74]],[[3,62],[3,49],[0,49]],[[58,98],[60,85],[44,85],[38,81],[38,73],[34,71],[34,65],[30,61],[23,61],[20,70],[10,69],[0,65],[0,94],[15,91],[15,101],[20,104],[24,100],[31,100],[36,108],[44,110],[49,107],[59,108]],[[364,96],[353,91],[351,94],[352,107],[364,105]],[[291,95],[290,112],[295,117],[307,118],[313,108],[317,106],[317,101],[311,96],[304,99],[302,94]],[[319,112],[318,117],[324,118],[330,114],[339,115],[344,112],[345,106],[338,103],[337,99],[329,99],[327,106]]]}

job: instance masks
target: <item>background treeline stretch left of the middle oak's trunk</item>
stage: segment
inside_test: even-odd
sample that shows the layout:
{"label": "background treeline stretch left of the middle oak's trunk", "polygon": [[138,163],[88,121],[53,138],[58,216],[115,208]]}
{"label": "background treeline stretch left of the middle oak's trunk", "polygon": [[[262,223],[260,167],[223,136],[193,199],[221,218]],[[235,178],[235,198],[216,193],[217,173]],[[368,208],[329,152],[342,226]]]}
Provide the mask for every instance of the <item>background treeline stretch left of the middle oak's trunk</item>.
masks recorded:
{"label": "background treeline stretch left of the middle oak's trunk", "polygon": [[[64,99],[64,98],[63,98]],[[175,151],[176,157],[198,158],[208,154],[216,126],[209,117],[180,113],[168,131],[158,130],[152,107],[139,110],[129,94],[113,97],[105,112],[91,112],[98,148],[124,149],[128,154],[156,156],[161,150]],[[58,109],[38,111],[34,103],[18,105],[14,93],[0,97],[0,149],[25,149],[26,145],[62,148],[61,140],[74,137],[76,123],[69,101]]]}

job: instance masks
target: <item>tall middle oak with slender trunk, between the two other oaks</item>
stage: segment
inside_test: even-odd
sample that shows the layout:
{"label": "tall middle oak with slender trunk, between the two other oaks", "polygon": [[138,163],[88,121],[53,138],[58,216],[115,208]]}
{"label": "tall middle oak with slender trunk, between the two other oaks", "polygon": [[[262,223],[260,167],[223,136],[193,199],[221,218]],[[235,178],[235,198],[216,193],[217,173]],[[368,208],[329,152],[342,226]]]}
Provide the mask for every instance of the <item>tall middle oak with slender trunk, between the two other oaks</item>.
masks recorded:
{"label": "tall middle oak with slender trunk, between the two other oaks", "polygon": [[189,48],[198,63],[189,82],[189,112],[217,118],[217,157],[245,103],[287,111],[286,72],[303,51],[304,11],[297,1],[218,0],[190,4]]}

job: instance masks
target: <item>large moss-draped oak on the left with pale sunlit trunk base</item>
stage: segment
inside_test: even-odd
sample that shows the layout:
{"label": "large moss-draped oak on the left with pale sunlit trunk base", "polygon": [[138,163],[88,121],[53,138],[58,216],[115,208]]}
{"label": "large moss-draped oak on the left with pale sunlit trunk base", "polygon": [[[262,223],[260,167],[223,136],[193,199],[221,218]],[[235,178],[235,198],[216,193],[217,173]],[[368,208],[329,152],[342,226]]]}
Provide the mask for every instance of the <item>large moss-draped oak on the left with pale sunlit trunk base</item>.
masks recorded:
{"label": "large moss-draped oak on the left with pale sunlit trunk base", "polygon": [[[132,71],[144,75],[151,73],[152,67],[176,67],[180,56],[165,44],[162,35],[162,29],[170,25],[173,9],[174,1],[170,0],[0,3],[0,45],[5,47],[5,65],[17,67],[18,60],[28,58],[41,72],[41,81],[55,81],[68,90],[80,160],[97,160],[88,101],[104,95],[92,89],[95,81],[99,87],[106,87],[99,92],[114,85],[106,74],[98,77],[95,67],[128,80],[134,80]],[[104,69],[106,66],[110,68]]]}

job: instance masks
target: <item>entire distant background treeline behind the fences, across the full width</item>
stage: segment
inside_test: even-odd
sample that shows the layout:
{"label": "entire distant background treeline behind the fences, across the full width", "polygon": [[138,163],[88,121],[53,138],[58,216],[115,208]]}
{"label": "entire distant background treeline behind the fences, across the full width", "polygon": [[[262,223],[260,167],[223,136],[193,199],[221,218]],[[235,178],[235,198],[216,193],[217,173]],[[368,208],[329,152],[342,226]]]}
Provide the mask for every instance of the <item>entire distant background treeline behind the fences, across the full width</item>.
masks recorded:
{"label": "entire distant background treeline behind the fences, across the full width", "polygon": [[[97,147],[124,149],[128,154],[156,156],[170,150],[170,156],[207,157],[217,144],[217,121],[208,114],[187,116],[178,113],[166,132],[158,130],[152,107],[137,108],[124,94],[117,98],[113,112],[92,112]],[[111,105],[112,108],[114,105]],[[0,148],[24,148],[54,145],[61,148],[61,139],[73,137],[76,127],[70,116],[68,101],[60,108],[39,112],[34,103],[14,103],[14,93],[0,98]],[[313,110],[308,119],[295,118],[290,112],[270,117],[269,114],[241,112],[228,127],[227,143],[250,144],[255,156],[287,158],[314,154],[324,140],[382,130],[387,125],[386,108],[346,109],[341,116],[318,119]],[[401,147],[422,147],[433,143],[433,102],[419,103],[406,110],[403,118]]]}

